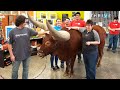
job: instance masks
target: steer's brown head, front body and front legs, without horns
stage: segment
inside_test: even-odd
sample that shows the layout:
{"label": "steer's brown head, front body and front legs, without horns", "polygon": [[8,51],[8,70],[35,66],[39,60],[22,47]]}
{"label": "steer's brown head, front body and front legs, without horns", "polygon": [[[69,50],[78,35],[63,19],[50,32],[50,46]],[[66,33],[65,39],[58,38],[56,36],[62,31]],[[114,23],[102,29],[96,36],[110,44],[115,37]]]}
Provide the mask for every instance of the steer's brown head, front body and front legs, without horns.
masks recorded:
{"label": "steer's brown head, front body and front legs, without horns", "polygon": [[[73,74],[73,67],[76,54],[81,50],[81,33],[76,30],[70,30],[70,39],[68,41],[54,40],[51,34],[46,34],[43,38],[43,43],[40,47],[40,56],[44,57],[53,53],[57,55],[60,60],[66,61],[66,75]],[[70,71],[70,73],[69,73]]]}

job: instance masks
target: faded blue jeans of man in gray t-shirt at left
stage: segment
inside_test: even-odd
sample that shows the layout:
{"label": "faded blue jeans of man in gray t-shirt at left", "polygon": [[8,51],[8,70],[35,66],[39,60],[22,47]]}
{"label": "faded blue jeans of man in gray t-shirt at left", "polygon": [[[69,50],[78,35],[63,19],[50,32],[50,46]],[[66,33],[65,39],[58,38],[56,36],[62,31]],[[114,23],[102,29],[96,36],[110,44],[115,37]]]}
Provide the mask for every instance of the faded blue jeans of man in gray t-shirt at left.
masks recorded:
{"label": "faded blue jeans of man in gray t-shirt at left", "polygon": [[29,61],[30,58],[27,58],[25,60],[15,60],[12,63],[12,79],[18,79],[18,70],[21,62],[23,65],[22,79],[28,79]]}

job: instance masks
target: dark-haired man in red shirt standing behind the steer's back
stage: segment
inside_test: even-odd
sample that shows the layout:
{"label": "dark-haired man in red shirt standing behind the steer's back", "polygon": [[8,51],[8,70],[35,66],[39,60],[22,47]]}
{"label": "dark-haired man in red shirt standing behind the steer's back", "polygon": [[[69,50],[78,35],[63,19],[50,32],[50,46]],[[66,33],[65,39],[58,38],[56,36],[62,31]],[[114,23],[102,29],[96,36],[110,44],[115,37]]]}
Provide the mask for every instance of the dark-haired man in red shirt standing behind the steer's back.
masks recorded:
{"label": "dark-haired man in red shirt standing behind the steer's back", "polygon": [[[70,27],[85,27],[85,21],[80,19],[80,12],[76,12],[74,15],[74,20],[71,21]],[[81,52],[78,52],[78,63],[81,61]]]}

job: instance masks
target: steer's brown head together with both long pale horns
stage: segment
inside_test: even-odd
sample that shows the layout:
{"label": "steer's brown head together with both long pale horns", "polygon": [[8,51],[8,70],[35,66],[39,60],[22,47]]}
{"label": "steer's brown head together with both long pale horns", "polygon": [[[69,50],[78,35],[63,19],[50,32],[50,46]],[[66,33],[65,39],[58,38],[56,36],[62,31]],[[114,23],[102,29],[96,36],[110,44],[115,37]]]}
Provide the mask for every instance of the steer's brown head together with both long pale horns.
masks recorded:
{"label": "steer's brown head together with both long pale horns", "polygon": [[28,14],[28,18],[30,21],[35,25],[38,26],[45,31],[49,31],[50,34],[46,34],[45,37],[43,38],[42,45],[40,47],[39,55],[41,57],[44,57],[50,53],[53,53],[57,47],[57,42],[65,42],[70,39],[70,34],[67,31],[61,30],[61,31],[56,31],[46,20],[46,24],[43,24],[41,22],[35,21],[31,16]]}

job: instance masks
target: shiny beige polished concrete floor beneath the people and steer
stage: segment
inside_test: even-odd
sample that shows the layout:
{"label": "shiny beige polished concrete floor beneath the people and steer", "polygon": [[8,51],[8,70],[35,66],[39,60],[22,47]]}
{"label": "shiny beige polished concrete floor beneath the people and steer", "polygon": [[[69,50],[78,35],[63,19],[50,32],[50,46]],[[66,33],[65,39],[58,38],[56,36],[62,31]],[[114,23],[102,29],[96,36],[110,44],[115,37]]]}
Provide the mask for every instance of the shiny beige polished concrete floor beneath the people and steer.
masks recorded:
{"label": "shiny beige polished concrete floor beneath the people and steer", "polygon": [[[39,56],[32,56],[30,62],[29,79],[85,79],[84,63],[78,63],[77,59],[74,65],[74,76],[69,78],[63,76],[65,68],[53,71],[50,67],[50,56],[41,59]],[[58,62],[60,66],[60,60]],[[0,75],[5,79],[11,79],[12,65],[0,68]],[[19,68],[19,79],[22,76],[22,65]],[[106,51],[101,67],[97,68],[96,79],[120,79],[120,49],[116,53]]]}

